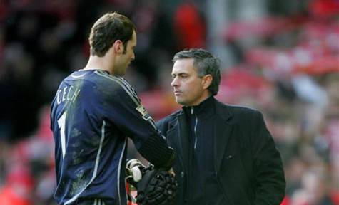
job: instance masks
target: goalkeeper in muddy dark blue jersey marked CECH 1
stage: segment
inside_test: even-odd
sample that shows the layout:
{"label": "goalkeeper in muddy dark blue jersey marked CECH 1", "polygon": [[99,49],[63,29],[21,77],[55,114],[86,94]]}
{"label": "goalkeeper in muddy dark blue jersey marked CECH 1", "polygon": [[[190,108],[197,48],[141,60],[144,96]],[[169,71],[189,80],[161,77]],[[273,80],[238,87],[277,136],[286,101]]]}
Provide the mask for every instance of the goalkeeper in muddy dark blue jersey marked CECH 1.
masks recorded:
{"label": "goalkeeper in muddy dark blue jersey marked CECH 1", "polygon": [[104,14],[88,40],[87,65],[62,80],[51,105],[54,199],[61,205],[125,205],[127,137],[158,167],[170,169],[175,154],[123,78],[135,58],[133,22]]}

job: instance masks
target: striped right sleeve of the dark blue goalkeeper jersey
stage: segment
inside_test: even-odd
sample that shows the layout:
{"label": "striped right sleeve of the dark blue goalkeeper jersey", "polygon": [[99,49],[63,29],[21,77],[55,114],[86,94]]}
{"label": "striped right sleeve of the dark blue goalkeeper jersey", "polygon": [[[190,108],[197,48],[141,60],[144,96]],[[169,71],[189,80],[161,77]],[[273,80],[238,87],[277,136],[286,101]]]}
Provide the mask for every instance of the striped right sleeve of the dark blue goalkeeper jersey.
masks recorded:
{"label": "striped right sleeve of the dark blue goalkeeper jersey", "polygon": [[122,78],[109,80],[108,86],[101,89],[104,117],[130,137],[138,152],[149,162],[158,167],[171,166],[173,149],[156,129],[153,118],[141,105],[131,85]]}

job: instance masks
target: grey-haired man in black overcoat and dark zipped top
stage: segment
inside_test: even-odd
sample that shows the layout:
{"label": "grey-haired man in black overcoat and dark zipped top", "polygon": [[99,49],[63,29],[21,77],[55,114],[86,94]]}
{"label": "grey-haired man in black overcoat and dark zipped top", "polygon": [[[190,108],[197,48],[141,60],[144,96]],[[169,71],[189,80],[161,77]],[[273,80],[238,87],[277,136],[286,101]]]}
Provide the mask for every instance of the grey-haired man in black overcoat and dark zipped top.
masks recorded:
{"label": "grey-haired man in black overcoat and dark zipped top", "polygon": [[183,109],[157,126],[178,155],[176,204],[280,204],[283,164],[263,115],[213,97],[220,63],[208,51],[184,50],[173,62],[171,86]]}

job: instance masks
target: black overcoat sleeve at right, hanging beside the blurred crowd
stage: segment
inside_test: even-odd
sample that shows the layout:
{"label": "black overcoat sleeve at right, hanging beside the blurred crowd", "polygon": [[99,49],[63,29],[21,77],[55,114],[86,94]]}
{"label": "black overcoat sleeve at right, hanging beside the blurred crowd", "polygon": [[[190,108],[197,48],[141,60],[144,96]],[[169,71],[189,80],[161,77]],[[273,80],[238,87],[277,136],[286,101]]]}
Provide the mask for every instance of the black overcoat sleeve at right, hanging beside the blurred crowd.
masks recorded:
{"label": "black overcoat sleeve at right, hanging beside the blurred crowd", "polygon": [[254,132],[251,137],[255,205],[280,204],[285,196],[285,175],[280,153],[275,147],[263,115],[255,111],[253,115]]}

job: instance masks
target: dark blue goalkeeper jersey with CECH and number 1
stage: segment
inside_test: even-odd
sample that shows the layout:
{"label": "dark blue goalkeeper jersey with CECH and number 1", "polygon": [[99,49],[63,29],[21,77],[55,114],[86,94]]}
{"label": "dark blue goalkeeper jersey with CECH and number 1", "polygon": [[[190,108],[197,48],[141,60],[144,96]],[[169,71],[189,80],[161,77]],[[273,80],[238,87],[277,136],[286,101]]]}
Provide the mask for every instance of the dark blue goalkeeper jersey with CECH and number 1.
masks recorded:
{"label": "dark blue goalkeeper jersey with CECH and number 1", "polygon": [[51,105],[51,130],[58,204],[126,204],[126,136],[153,164],[165,164],[172,153],[133,88],[103,70],[79,70],[61,82]]}

